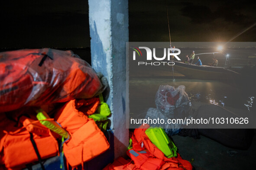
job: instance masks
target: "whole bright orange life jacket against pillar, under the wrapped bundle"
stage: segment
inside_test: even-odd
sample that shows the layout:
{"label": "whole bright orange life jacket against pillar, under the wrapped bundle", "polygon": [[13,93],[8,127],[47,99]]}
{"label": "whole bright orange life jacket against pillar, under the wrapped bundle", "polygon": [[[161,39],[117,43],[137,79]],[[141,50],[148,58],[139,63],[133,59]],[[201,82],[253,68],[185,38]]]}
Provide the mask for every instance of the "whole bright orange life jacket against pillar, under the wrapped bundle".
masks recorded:
{"label": "whole bright orange life jacket against pillar, under the wrapped bundle", "polygon": [[[55,120],[62,125],[71,138],[63,144],[67,163],[77,167],[97,157],[109,148],[109,143],[93,119],[87,113],[94,113],[99,104],[98,98],[74,99],[59,109]],[[79,109],[86,110],[85,114]]]}

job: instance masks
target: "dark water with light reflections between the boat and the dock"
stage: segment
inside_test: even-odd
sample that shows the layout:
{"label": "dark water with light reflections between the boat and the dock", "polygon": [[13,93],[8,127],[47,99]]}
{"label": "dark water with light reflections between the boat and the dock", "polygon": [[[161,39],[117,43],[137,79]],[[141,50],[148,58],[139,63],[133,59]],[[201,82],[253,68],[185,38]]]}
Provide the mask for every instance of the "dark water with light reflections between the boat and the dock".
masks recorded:
{"label": "dark water with light reflections between the boat and the dock", "polygon": [[161,84],[174,87],[184,85],[191,101],[256,111],[253,104],[255,93],[248,88],[211,80],[176,79],[172,82],[172,79],[167,78],[130,79],[131,111],[133,107],[155,107],[156,91]]}

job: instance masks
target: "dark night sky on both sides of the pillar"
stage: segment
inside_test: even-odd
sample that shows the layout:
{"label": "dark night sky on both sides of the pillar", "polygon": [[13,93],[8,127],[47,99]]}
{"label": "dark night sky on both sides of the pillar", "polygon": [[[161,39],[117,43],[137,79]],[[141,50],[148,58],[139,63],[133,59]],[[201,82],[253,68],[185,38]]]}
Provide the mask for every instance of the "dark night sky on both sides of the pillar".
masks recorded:
{"label": "dark night sky on both sides of the pillar", "polygon": [[[97,1],[95,1],[97,2]],[[226,42],[256,22],[256,1],[168,0],[173,42]],[[0,3],[0,48],[90,46],[87,0]],[[256,26],[234,42],[256,42]],[[130,42],[168,42],[165,0],[129,1]]]}

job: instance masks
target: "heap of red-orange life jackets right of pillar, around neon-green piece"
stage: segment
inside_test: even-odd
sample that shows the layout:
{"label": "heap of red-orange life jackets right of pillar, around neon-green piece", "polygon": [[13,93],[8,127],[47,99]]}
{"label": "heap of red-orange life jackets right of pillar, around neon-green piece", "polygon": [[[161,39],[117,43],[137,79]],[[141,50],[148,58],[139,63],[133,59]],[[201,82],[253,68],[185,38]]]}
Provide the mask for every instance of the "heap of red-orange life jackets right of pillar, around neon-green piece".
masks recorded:
{"label": "heap of red-orange life jackets right of pillar, around neon-green piece", "polygon": [[127,155],[133,160],[140,170],[192,170],[190,162],[183,160],[177,153],[177,157],[165,157],[165,154],[152,144],[146,135],[149,125],[141,126],[134,130],[132,147]]}

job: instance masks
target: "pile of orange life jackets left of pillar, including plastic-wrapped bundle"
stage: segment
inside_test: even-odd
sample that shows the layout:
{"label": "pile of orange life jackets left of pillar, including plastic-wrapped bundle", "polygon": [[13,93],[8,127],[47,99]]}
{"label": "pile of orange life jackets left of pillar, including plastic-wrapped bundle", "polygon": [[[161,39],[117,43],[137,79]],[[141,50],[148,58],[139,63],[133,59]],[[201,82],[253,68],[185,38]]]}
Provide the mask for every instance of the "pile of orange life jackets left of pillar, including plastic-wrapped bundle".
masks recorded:
{"label": "pile of orange life jackets left of pillar, including plastic-wrapped bundle", "polygon": [[[69,138],[63,153],[72,168],[109,148],[93,119],[102,88],[95,71],[71,51],[25,49],[0,53],[0,169],[20,170],[60,154],[61,136],[36,118],[47,108]],[[59,103],[59,104],[58,104]]]}

